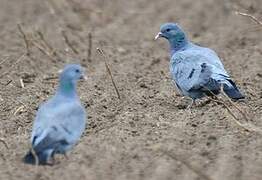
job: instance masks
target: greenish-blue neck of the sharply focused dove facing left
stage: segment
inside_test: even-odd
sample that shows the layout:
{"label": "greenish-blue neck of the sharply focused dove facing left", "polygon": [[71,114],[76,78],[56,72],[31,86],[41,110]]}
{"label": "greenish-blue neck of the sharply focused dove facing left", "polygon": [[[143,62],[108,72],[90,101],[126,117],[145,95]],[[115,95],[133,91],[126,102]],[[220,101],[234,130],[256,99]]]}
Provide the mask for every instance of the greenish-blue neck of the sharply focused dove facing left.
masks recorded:
{"label": "greenish-blue neck of the sharply focused dove facing left", "polygon": [[169,39],[169,44],[171,56],[173,56],[177,51],[185,49],[189,43],[186,36],[182,34],[181,36],[176,36],[172,39]]}

